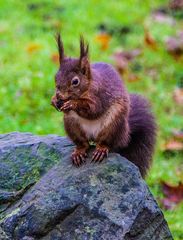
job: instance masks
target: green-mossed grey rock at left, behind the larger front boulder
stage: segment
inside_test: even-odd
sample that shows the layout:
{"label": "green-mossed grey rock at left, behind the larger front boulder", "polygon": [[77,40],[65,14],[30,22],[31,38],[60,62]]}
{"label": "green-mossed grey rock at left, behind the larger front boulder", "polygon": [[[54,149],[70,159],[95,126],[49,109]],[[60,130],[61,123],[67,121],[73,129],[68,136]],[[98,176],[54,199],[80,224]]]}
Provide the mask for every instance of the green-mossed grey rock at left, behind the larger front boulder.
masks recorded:
{"label": "green-mossed grey rock at left, behind the larger front boulder", "polygon": [[54,135],[0,134],[0,189],[17,191],[37,181],[71,146]]}

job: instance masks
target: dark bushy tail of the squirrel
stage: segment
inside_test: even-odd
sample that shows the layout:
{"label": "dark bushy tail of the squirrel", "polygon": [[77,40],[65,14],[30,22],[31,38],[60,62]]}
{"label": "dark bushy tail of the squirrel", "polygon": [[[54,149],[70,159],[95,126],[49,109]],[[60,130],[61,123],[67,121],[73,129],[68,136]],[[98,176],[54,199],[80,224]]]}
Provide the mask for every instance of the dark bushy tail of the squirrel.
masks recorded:
{"label": "dark bushy tail of the squirrel", "polygon": [[145,177],[152,161],[156,140],[156,123],[148,102],[139,95],[131,94],[129,115],[130,143],[120,154],[139,167]]}

